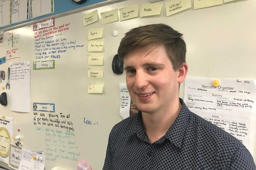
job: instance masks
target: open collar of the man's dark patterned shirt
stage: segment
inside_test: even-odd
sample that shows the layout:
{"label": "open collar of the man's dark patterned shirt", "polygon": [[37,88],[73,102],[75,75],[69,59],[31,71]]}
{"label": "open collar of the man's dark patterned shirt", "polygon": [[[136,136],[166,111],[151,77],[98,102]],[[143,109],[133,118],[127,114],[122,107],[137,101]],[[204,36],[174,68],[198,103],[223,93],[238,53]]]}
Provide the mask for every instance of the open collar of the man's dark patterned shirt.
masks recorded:
{"label": "open collar of the man's dark patterned shirt", "polygon": [[[190,114],[188,113],[190,111],[187,108],[184,101],[181,98],[179,98],[179,100],[182,105],[180,113],[178,114],[173,124],[165,133],[165,136],[163,136],[161,139],[156,141],[156,143],[162,143],[166,138],[175,146],[177,146],[178,148],[181,148],[184,140],[184,135],[187,131],[187,128],[189,127]],[[132,119],[131,130],[128,135],[131,136],[133,134],[137,134],[138,138],[140,138],[141,140],[147,143],[150,143],[141,123],[141,120],[142,120],[141,111],[133,115],[131,119]]]}

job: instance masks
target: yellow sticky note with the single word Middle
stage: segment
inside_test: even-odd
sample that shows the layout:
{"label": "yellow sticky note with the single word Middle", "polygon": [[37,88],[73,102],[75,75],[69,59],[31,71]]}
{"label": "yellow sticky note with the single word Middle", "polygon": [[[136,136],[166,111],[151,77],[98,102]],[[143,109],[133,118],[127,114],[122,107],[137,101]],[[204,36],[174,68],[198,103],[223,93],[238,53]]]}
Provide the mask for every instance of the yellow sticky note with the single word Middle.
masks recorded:
{"label": "yellow sticky note with the single word Middle", "polygon": [[162,6],[163,6],[162,2],[141,4],[140,17],[159,15],[161,13]]}

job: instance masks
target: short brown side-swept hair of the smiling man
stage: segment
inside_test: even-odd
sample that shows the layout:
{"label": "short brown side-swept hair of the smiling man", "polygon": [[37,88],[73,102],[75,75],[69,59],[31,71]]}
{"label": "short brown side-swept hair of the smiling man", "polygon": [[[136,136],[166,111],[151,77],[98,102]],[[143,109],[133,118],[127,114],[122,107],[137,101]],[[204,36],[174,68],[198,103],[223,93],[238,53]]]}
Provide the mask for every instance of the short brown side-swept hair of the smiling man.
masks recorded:
{"label": "short brown side-swept hair of the smiling man", "polygon": [[167,55],[177,71],[186,62],[186,43],[181,33],[166,24],[152,24],[129,30],[122,38],[118,56],[124,57],[131,51],[152,45],[164,45]]}

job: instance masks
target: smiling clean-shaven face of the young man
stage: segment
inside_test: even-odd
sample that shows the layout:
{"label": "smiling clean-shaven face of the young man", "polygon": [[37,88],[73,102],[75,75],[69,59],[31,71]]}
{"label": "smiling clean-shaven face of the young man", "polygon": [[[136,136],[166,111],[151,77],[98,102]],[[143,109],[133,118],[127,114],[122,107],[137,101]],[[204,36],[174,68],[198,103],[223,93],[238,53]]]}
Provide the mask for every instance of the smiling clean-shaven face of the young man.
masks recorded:
{"label": "smiling clean-shaven face of the young man", "polygon": [[178,100],[179,70],[174,71],[163,45],[132,51],[124,58],[126,84],[140,111],[169,111]]}

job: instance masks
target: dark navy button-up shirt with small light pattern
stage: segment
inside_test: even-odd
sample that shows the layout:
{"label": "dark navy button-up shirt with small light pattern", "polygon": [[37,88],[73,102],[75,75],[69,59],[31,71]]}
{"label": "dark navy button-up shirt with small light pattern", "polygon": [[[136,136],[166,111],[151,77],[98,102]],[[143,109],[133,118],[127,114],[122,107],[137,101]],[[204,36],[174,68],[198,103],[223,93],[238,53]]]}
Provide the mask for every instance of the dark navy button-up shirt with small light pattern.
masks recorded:
{"label": "dark navy button-up shirt with small light pattern", "polygon": [[256,170],[240,141],[180,102],[178,117],[152,144],[143,130],[141,112],[116,124],[103,170]]}

